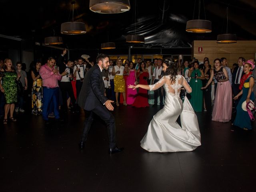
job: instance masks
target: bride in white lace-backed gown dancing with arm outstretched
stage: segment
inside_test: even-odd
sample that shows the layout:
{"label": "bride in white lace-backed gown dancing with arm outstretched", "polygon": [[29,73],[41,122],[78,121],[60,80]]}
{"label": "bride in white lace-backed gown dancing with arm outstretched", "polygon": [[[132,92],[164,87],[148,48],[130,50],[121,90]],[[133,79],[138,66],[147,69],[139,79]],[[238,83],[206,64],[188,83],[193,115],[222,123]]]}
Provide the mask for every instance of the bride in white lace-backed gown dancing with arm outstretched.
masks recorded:
{"label": "bride in white lace-backed gown dancing with arm outstretched", "polygon": [[[140,141],[140,146],[149,152],[192,151],[201,145],[201,135],[194,110],[185,97],[180,99],[182,86],[188,93],[191,87],[182,75],[178,75],[178,66],[172,59],[163,62],[164,76],[154,85],[129,85],[128,88],[156,90],[164,86],[166,92],[164,108],[152,118],[148,131]],[[182,127],[176,122],[178,116]]]}

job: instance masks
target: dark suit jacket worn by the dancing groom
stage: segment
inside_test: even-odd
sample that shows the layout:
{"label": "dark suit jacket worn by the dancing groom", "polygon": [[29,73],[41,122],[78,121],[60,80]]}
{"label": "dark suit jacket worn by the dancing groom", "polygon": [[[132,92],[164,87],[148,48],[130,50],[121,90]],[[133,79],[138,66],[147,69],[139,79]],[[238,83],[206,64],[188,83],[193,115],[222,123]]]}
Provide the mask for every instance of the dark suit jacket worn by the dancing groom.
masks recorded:
{"label": "dark suit jacket worn by the dancing groom", "polygon": [[108,98],[104,96],[105,86],[98,64],[94,65],[84,77],[81,92],[76,100],[78,105],[85,110],[93,110],[98,105],[103,105]]}

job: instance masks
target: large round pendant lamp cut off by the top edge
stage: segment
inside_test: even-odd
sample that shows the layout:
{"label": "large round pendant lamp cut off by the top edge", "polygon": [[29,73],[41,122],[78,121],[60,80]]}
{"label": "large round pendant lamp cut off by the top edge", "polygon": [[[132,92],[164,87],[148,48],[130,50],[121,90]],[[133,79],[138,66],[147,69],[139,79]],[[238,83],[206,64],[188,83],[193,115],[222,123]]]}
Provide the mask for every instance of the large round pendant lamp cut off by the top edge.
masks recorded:
{"label": "large round pendant lamp cut off by the top edge", "polygon": [[129,0],[90,0],[89,8],[96,13],[114,14],[130,10]]}

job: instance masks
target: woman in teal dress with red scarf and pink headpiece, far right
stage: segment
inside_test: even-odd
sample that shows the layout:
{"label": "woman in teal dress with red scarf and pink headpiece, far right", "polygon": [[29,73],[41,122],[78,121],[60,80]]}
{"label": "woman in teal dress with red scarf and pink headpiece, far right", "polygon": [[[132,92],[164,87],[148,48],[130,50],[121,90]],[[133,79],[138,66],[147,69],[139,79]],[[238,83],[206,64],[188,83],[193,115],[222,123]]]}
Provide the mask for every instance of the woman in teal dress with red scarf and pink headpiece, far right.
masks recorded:
{"label": "woman in teal dress with red scarf and pink headpiece, far right", "polygon": [[250,60],[244,62],[244,76],[240,80],[239,89],[241,90],[235,97],[234,100],[238,99],[242,95],[238,105],[236,107],[236,118],[233,122],[234,126],[238,126],[244,130],[251,130],[252,124],[251,119],[247,111],[242,109],[242,103],[246,101],[248,103],[250,100],[254,101],[255,96],[253,90],[254,86],[254,76],[252,70],[254,69],[254,63]]}

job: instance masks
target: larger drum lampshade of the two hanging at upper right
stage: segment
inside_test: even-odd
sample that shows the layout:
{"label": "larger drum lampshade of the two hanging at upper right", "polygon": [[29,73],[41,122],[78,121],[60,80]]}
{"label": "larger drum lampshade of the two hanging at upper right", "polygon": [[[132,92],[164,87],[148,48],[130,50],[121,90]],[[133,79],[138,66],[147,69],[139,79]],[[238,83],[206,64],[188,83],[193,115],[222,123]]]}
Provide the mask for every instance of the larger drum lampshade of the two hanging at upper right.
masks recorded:
{"label": "larger drum lampshade of the two hanging at upper right", "polygon": [[186,31],[192,33],[212,32],[212,22],[208,20],[189,20],[187,21]]}

